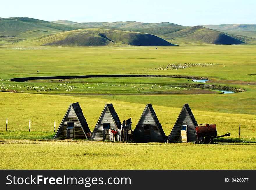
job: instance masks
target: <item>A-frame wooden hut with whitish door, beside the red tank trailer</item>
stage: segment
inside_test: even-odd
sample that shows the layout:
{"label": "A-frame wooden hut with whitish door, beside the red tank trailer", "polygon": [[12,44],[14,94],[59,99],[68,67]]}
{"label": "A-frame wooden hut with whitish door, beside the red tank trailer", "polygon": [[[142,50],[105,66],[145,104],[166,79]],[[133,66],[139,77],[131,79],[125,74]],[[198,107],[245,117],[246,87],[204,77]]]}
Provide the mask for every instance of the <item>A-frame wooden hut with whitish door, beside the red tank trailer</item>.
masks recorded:
{"label": "A-frame wooden hut with whitish door, beside the red tank trailer", "polygon": [[184,104],[175,125],[168,136],[169,141],[191,142],[196,141],[195,126],[198,126],[195,117],[189,107]]}

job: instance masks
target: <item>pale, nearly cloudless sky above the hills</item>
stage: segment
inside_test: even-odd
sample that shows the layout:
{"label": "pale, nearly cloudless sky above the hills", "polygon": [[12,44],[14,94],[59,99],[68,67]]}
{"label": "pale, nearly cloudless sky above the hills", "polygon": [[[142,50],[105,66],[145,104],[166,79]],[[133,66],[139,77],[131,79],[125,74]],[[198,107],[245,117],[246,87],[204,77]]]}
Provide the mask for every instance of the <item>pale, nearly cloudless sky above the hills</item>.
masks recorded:
{"label": "pale, nearly cloudless sky above the hills", "polygon": [[0,17],[74,22],[171,22],[183,26],[256,24],[256,0],[13,0],[1,1]]}

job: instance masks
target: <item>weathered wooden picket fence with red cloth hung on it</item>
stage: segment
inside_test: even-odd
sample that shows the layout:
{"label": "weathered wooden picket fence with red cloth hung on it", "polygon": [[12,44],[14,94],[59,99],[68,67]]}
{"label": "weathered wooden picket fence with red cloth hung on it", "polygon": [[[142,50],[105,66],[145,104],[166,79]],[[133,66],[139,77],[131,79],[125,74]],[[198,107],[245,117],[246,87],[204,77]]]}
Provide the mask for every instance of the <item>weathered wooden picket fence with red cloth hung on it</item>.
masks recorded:
{"label": "weathered wooden picket fence with red cloth hung on it", "polygon": [[129,141],[132,142],[133,130],[131,129],[109,129],[109,141]]}

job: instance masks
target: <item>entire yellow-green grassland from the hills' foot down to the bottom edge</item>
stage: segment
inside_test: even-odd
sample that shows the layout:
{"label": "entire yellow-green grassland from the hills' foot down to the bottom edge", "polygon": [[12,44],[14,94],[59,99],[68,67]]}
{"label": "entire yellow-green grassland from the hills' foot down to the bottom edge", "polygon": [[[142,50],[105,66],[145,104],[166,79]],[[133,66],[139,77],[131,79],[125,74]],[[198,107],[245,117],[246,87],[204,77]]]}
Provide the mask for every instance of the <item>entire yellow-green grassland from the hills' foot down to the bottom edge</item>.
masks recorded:
{"label": "entire yellow-green grassland from the hills' foot down to the bottom edge", "polygon": [[[255,47],[253,45],[198,45],[154,49],[154,47],[1,46],[0,77],[3,79],[0,81],[1,85],[22,86],[17,87],[17,91],[23,92],[0,92],[0,139],[2,139],[0,168],[255,169],[256,75],[250,75],[256,73]],[[213,65],[185,69],[159,69],[170,63],[210,63]],[[55,80],[24,83],[7,81],[15,77],[93,74],[208,77],[211,79],[209,84],[233,86],[247,91],[234,94],[157,94],[167,91],[158,88],[155,94],[148,95],[144,92],[145,90],[136,91],[137,89],[132,88],[133,85],[143,85],[144,88],[144,85],[154,83],[160,86],[193,83],[187,79],[178,78],[170,78],[170,81],[164,78],[72,79],[68,81],[70,83]],[[96,86],[97,83],[101,86]],[[77,87],[93,84],[95,89],[84,88],[80,91],[80,88],[73,88],[71,91],[66,91],[67,89],[58,91],[59,89],[54,89],[53,84]],[[110,84],[116,86],[110,86]],[[33,85],[47,86],[47,89],[54,90],[36,92],[30,89]],[[129,88],[129,92],[122,93],[122,87]],[[13,87],[9,90],[15,89]],[[179,90],[185,91],[185,89]],[[133,128],[145,104],[152,103],[166,135],[170,134],[182,105],[189,103],[198,123],[216,123],[219,135],[230,132],[231,141],[198,145],[192,143],[135,144],[13,140],[51,138],[54,121],[58,127],[69,104],[73,102],[79,102],[81,105],[91,131],[105,103],[113,103],[121,121],[132,117]],[[8,118],[7,132],[5,131],[6,118]],[[29,120],[31,120],[31,133],[27,132]],[[231,143],[232,139],[238,137],[239,124],[241,125],[241,137],[247,143]],[[118,151],[111,152],[110,149]],[[156,154],[158,156],[155,156]],[[9,162],[10,159],[12,162]],[[122,162],[122,168],[118,164],[110,168],[110,159],[118,163]],[[189,164],[184,166],[182,159],[190,160]],[[72,167],[67,165],[70,161],[73,163]],[[200,162],[200,164],[194,164],[195,162]]]}

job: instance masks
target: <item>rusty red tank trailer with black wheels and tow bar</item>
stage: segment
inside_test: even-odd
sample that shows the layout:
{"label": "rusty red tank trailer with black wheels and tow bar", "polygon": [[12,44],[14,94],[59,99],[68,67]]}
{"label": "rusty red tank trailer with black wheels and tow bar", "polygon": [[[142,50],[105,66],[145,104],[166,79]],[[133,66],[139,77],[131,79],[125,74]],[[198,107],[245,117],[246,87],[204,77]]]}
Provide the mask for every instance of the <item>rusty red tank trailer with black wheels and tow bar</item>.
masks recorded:
{"label": "rusty red tank trailer with black wheels and tow bar", "polygon": [[204,142],[205,144],[212,144],[213,139],[219,137],[230,136],[230,133],[225,135],[217,136],[216,124],[200,124],[195,127],[196,137],[198,142]]}

